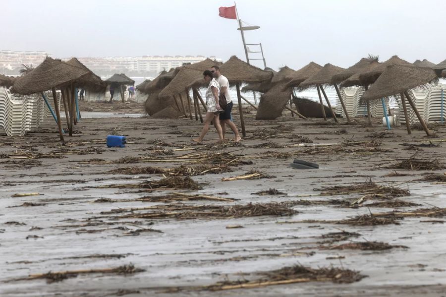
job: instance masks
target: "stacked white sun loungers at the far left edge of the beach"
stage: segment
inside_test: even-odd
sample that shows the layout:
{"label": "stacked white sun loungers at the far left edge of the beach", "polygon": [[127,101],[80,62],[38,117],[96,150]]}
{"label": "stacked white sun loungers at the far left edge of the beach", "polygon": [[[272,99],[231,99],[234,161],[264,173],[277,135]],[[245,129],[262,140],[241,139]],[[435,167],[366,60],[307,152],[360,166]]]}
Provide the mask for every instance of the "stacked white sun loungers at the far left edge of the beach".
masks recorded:
{"label": "stacked white sun loungers at the far left edge of the beach", "polygon": [[8,136],[23,136],[37,128],[44,119],[44,101],[41,96],[12,95],[0,89],[0,126]]}

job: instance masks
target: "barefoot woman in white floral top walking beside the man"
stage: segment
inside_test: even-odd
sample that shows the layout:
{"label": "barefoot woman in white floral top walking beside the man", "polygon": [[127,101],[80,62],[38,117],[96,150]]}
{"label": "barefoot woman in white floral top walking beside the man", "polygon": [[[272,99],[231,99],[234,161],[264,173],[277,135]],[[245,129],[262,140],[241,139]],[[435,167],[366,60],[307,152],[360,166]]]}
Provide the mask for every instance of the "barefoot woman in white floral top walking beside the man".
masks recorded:
{"label": "barefoot woman in white floral top walking beside the man", "polygon": [[204,80],[209,82],[208,89],[206,90],[206,107],[208,112],[206,113],[206,118],[204,119],[203,129],[201,130],[201,135],[198,138],[193,138],[192,140],[201,143],[206,133],[209,130],[209,126],[211,122],[214,120],[214,126],[219,133],[220,142],[223,141],[223,131],[222,126],[220,125],[220,113],[223,112],[223,109],[219,104],[219,95],[220,95],[220,86],[217,80],[215,80],[212,72],[210,70],[206,70],[203,72]]}

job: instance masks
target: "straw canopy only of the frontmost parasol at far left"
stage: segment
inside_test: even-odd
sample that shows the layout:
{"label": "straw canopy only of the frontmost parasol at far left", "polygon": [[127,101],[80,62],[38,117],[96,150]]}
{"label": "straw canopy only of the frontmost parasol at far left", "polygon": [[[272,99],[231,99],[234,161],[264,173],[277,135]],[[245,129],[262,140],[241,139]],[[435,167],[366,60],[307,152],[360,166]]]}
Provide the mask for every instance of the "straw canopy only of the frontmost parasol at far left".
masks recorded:
{"label": "straw canopy only of the frontmost parasol at far left", "polygon": [[14,81],[13,92],[30,95],[76,81],[88,71],[47,57],[39,66]]}

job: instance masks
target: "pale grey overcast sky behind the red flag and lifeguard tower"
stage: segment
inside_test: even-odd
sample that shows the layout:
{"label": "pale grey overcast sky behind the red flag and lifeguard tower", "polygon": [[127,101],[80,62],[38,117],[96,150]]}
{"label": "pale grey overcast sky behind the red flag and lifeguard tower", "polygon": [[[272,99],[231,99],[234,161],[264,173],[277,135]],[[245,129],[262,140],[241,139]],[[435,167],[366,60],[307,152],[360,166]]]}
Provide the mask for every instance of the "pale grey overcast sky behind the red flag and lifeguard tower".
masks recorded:
{"label": "pale grey overcast sky behind the red flag and lifeguard tower", "polygon": [[[55,57],[203,55],[245,59],[229,0],[2,0],[3,50]],[[239,0],[246,32],[267,65],[349,66],[367,54],[413,62],[446,59],[445,0]]]}

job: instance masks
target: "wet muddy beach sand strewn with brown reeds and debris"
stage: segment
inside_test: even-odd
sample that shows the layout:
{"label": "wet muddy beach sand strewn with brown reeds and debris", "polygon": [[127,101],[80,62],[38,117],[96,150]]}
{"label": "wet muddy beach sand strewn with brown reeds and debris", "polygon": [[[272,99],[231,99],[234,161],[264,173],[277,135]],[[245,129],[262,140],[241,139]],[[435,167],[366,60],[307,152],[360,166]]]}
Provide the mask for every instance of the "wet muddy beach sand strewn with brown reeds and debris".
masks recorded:
{"label": "wet muddy beach sand strewn with brown reeds and debris", "polygon": [[[64,146],[53,119],[23,137],[0,132],[1,296],[445,292],[444,126],[426,138],[385,132],[381,119],[252,112],[240,144],[215,144],[211,128],[193,145],[199,121],[84,115]],[[107,148],[111,132],[127,146]],[[439,146],[400,145],[429,141]],[[292,169],[294,158],[320,168]],[[421,170],[389,168],[402,162]],[[266,178],[222,181],[247,175]],[[306,274],[277,271],[298,265]]]}

